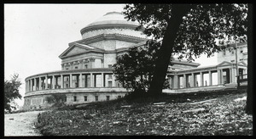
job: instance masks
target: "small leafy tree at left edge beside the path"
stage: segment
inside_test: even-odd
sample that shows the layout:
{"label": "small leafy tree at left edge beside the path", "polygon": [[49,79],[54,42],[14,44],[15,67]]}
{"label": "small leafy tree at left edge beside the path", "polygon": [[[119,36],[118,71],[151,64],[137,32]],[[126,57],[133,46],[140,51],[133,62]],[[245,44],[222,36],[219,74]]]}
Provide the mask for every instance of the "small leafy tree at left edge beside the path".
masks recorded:
{"label": "small leafy tree at left edge beside the path", "polygon": [[10,81],[4,81],[4,109],[11,112],[12,108],[16,109],[15,99],[20,98],[21,95],[19,92],[19,88],[21,85],[21,82],[19,81],[19,74],[14,74],[11,77]]}

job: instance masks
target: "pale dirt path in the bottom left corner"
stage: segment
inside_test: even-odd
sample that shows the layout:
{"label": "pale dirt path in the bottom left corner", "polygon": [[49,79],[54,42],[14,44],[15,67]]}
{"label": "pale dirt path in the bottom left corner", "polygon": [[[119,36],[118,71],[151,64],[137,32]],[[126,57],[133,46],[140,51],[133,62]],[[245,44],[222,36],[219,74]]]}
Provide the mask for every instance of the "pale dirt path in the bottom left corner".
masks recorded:
{"label": "pale dirt path in the bottom left corner", "polygon": [[4,114],[4,136],[42,136],[33,126],[38,114],[42,112]]}

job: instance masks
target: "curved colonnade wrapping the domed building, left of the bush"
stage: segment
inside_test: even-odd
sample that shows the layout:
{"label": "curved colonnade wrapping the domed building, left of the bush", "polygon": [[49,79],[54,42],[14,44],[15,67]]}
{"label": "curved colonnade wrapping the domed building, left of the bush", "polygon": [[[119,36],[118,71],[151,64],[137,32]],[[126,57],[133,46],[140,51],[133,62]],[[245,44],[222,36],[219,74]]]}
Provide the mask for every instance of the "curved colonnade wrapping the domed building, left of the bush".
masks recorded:
{"label": "curved colonnade wrapping the domed building, left of the bush", "polygon": [[70,73],[38,75],[26,79],[26,92],[47,89],[119,86],[113,73]]}

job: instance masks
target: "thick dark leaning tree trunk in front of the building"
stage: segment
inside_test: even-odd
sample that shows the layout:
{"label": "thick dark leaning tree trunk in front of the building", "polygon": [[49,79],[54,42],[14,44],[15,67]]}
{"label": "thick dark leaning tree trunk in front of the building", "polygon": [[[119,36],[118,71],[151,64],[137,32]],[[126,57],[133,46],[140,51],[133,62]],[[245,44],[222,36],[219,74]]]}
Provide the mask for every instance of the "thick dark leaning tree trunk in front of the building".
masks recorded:
{"label": "thick dark leaning tree trunk in front of the building", "polygon": [[191,5],[187,4],[172,4],[172,16],[168,21],[160,51],[157,53],[158,59],[154,68],[154,75],[148,89],[150,95],[157,95],[162,92],[167,68],[172,56],[172,47],[177,38],[177,31],[179,25],[183,22],[183,16],[188,13],[190,8]]}

